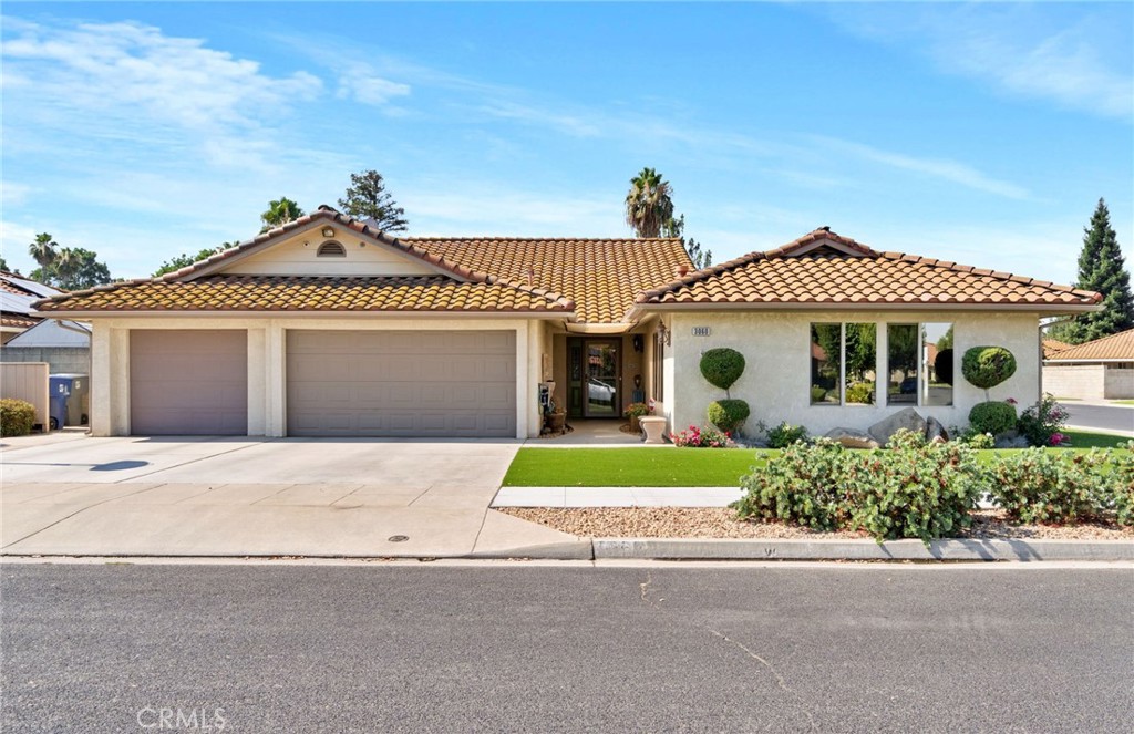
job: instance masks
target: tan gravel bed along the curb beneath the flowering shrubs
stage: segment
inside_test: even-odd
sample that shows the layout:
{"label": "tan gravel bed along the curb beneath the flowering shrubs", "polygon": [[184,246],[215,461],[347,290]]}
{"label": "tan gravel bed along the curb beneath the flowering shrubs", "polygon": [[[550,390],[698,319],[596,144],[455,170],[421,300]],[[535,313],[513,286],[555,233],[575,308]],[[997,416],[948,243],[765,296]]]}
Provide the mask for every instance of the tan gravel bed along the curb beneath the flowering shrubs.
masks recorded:
{"label": "tan gravel bed along the curb beneath the flowering shrubs", "polygon": [[[501,507],[498,512],[591,538],[761,538],[846,540],[865,532],[822,533],[785,525],[737,520],[726,507]],[[973,526],[962,538],[1042,538],[1047,540],[1134,540],[1134,528],[1082,525],[1012,525],[1000,511],[973,513]]]}

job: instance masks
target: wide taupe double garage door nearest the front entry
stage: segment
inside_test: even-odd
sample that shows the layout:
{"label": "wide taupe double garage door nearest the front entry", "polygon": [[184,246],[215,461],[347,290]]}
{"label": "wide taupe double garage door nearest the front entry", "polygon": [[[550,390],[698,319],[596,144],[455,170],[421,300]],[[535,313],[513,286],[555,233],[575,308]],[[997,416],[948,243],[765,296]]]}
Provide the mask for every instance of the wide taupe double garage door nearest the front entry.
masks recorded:
{"label": "wide taupe double garage door nearest the front entry", "polygon": [[516,435],[515,331],[288,331],[288,436]]}

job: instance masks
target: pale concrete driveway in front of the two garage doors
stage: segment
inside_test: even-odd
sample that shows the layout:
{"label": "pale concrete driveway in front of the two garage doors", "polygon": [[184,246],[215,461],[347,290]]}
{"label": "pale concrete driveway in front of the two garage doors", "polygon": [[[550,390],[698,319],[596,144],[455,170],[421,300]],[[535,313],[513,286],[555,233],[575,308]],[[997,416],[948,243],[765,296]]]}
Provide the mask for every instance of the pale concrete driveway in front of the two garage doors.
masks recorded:
{"label": "pale concrete driveway in front of the two garage doors", "polygon": [[519,441],[87,438],[0,446],[0,554],[582,552],[489,509]]}

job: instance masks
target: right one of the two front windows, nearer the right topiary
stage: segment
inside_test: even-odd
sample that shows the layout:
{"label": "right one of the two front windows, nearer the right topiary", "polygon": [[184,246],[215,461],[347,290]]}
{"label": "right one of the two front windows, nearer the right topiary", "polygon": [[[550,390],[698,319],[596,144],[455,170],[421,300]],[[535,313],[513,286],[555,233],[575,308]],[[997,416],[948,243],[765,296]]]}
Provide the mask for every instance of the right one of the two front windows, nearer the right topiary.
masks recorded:
{"label": "right one of the two front windows, nearer the right topiary", "polygon": [[953,405],[953,324],[886,327],[887,405]]}

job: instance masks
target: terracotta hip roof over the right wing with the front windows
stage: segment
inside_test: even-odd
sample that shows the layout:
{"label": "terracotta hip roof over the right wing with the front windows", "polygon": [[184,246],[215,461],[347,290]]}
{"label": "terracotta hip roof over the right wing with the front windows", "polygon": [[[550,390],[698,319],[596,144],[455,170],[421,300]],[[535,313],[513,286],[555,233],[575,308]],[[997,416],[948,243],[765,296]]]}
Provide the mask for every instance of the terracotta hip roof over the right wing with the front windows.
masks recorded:
{"label": "terracotta hip roof over the right wing with the front windows", "polygon": [[1092,306],[1101,296],[1008,272],[875,252],[828,229],[691,273],[640,304]]}

